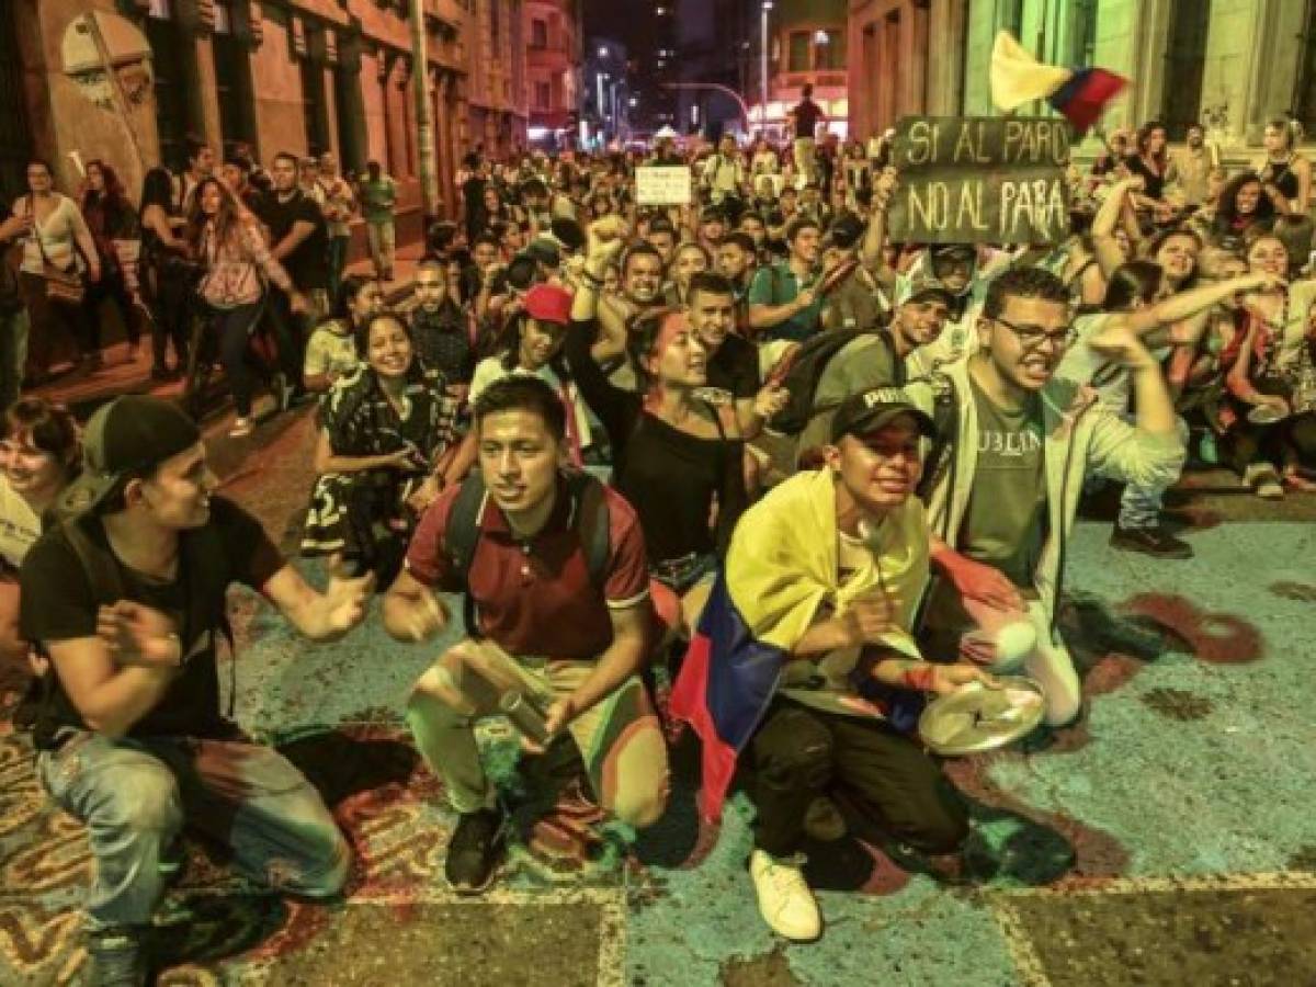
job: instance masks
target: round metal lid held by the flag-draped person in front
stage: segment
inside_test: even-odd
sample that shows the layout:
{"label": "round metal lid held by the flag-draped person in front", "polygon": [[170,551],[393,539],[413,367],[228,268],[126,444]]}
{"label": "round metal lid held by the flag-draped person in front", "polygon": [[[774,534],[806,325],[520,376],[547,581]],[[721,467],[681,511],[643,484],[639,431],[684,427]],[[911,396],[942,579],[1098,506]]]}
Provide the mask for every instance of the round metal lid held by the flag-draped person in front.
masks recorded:
{"label": "round metal lid held by the flag-draped person in front", "polygon": [[1004,747],[1032,733],[1046,704],[1042,687],[1021,675],[998,675],[1000,688],[973,682],[934,699],[919,717],[919,736],[942,757]]}

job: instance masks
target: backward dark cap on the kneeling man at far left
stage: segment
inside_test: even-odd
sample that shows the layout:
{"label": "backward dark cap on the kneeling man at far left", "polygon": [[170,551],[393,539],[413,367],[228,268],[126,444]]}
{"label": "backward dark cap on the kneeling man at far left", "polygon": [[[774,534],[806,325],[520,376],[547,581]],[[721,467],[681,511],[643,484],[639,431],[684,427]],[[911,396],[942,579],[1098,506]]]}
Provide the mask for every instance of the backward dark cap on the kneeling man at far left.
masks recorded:
{"label": "backward dark cap on the kneeling man at far left", "polygon": [[83,471],[59,496],[57,512],[93,511],[125,478],[145,476],[200,441],[196,422],[175,404],[149,395],[116,397],[87,421]]}

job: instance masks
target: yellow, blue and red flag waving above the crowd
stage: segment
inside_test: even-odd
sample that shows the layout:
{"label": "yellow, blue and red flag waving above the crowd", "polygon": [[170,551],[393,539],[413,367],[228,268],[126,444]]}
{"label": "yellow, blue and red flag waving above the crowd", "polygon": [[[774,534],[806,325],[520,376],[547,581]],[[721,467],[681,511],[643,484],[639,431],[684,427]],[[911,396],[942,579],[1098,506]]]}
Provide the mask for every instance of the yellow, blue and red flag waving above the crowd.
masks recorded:
{"label": "yellow, blue and red flag waving above the crowd", "polygon": [[991,53],[991,101],[1007,113],[1046,100],[1079,134],[1087,132],[1128,79],[1105,68],[1061,68],[1038,62],[1009,32],[996,34]]}

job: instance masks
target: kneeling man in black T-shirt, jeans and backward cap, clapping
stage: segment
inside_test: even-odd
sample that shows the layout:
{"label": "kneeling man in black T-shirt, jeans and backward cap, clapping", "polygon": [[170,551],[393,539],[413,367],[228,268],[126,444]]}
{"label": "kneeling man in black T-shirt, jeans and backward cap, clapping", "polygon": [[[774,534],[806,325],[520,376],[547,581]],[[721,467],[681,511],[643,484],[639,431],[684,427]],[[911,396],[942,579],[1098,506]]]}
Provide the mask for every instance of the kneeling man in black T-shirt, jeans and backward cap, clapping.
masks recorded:
{"label": "kneeling man in black T-shirt, jeans and backward cap, clapping", "polygon": [[184,826],[278,890],[329,898],[342,887],[350,850],[320,795],[221,713],[216,638],[228,634],[230,583],[328,641],[365,617],[371,579],[308,587],[259,521],[215,496],[201,436],[167,401],[120,397],[84,440],[84,472],[61,501],[68,520],[24,561],[21,628],[54,667],[37,770],[87,824],[96,859],[89,979],[136,984]]}

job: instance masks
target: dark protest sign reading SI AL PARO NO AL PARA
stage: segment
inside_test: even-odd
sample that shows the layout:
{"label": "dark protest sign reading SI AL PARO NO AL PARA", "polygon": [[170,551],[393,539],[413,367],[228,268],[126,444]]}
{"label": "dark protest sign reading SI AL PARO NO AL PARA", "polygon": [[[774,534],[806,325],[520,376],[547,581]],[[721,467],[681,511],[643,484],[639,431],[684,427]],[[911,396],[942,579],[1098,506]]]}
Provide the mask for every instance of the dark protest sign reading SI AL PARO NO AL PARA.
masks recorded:
{"label": "dark protest sign reading SI AL PARO NO AL PARA", "polygon": [[1058,243],[1069,236],[1070,125],[1016,117],[905,117],[887,212],[901,243]]}

